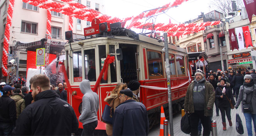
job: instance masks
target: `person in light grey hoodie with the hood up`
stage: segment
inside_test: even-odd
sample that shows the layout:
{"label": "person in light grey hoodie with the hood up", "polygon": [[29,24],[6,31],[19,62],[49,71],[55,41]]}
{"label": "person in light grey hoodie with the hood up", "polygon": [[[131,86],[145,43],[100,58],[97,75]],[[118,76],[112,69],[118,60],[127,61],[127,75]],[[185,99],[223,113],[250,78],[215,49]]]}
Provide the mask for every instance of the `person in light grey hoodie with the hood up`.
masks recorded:
{"label": "person in light grey hoodie with the hood up", "polygon": [[89,80],[83,80],[79,88],[84,94],[82,114],[79,116],[79,121],[83,123],[82,136],[93,136],[94,130],[98,125],[99,97],[97,93],[91,90]]}

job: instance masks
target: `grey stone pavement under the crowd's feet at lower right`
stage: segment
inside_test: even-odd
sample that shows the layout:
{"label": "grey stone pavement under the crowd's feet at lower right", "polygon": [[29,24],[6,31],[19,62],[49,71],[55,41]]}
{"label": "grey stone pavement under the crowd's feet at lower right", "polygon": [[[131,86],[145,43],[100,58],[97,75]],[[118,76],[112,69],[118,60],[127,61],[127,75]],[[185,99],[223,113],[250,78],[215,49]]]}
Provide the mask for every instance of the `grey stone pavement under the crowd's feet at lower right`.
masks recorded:
{"label": "grey stone pavement under the crowd's feet at lower right", "polygon": [[[236,132],[236,113],[237,112],[240,115],[240,118],[242,119],[242,123],[243,123],[244,134],[242,134],[242,135],[240,135]],[[189,134],[185,134],[181,131],[181,129],[180,129],[180,120],[181,120],[181,113],[173,115],[173,133],[174,133],[174,136],[189,136]],[[232,126],[229,126],[229,123],[228,123],[227,117],[226,117],[226,123],[227,123],[227,130],[226,131],[222,130],[221,111],[219,111],[219,116],[216,116],[215,105],[214,105],[214,109],[213,109],[212,120],[215,120],[216,123],[217,123],[217,134],[218,134],[218,136],[248,136],[244,114],[241,111],[241,104],[239,105],[238,109],[236,109],[236,108],[231,109],[231,120],[232,120],[232,124],[233,124]],[[253,126],[253,123],[252,123],[252,126]],[[169,126],[168,126],[168,128],[169,128]],[[254,131],[254,128],[252,128],[252,129]],[[159,132],[160,132],[160,125],[152,128],[150,130],[148,136],[158,136]],[[170,130],[169,130],[169,133],[170,133]],[[203,130],[202,130],[202,133],[203,133]],[[201,133],[201,136],[202,136],[202,133]],[[255,136],[254,132],[253,132],[253,134]],[[212,136],[212,132],[211,132],[210,136]]]}

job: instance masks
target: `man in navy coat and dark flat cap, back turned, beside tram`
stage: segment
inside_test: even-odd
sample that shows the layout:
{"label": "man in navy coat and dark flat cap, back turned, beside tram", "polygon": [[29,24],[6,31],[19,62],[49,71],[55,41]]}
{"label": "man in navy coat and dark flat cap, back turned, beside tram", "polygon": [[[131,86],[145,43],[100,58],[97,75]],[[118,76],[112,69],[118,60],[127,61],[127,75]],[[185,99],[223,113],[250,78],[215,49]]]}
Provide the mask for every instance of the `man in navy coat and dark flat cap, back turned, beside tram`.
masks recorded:
{"label": "man in navy coat and dark flat cap, back turned, beside tram", "polygon": [[146,107],[133,100],[130,89],[120,91],[121,104],[116,107],[113,118],[113,136],[147,136],[148,113]]}

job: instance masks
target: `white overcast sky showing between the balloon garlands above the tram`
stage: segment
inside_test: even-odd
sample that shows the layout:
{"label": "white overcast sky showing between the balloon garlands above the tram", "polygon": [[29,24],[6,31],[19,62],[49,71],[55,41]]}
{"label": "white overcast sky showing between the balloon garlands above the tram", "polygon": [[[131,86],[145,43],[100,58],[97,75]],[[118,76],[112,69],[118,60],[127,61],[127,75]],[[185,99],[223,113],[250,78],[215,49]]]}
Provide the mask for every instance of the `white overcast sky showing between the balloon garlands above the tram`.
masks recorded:
{"label": "white overcast sky showing between the balloon garlands above the tram", "polygon": [[[126,18],[139,15],[145,10],[162,7],[174,0],[108,0],[106,1],[106,14],[111,17]],[[178,7],[170,8],[166,14],[158,15],[157,22],[184,23],[197,18],[201,12],[208,13],[214,10],[211,0],[188,0]],[[210,6],[210,7],[209,7]],[[141,20],[140,20],[141,21]]]}

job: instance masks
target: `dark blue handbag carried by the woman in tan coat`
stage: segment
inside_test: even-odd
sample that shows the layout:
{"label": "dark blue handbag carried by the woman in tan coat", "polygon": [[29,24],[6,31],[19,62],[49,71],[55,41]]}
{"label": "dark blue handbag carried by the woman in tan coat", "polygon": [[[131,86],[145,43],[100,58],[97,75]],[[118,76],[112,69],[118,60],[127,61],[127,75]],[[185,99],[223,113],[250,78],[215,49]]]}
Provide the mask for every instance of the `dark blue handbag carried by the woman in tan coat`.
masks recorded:
{"label": "dark blue handbag carried by the woman in tan coat", "polygon": [[102,122],[107,123],[107,124],[113,124],[114,100],[115,99],[113,99],[110,102],[109,106],[107,104],[105,105],[104,111],[103,111],[102,116],[101,116]]}

